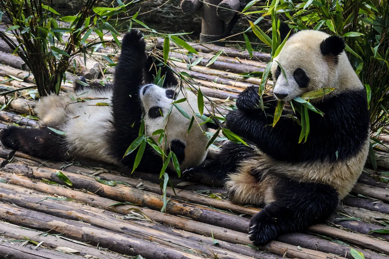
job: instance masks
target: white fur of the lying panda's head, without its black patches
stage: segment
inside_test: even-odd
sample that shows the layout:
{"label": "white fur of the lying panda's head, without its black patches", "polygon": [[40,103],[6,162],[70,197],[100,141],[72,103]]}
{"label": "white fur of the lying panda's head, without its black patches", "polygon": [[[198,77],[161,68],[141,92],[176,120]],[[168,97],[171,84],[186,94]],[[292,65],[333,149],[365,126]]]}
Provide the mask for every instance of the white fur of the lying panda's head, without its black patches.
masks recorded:
{"label": "white fur of the lying panda's head, without its black patches", "polygon": [[[195,122],[193,122],[193,126],[189,133],[187,132],[189,129],[190,120],[185,118],[179,110],[175,106],[173,106],[170,115],[168,112],[172,107],[172,99],[166,97],[166,90],[171,89],[173,91],[178,92],[178,95],[175,100],[182,99],[186,97],[186,101],[182,103],[178,103],[177,105],[184,110],[190,117],[195,116]],[[168,147],[169,143],[173,139],[178,139],[185,144],[185,161],[181,164],[181,169],[186,169],[186,167],[191,165],[200,165],[205,159],[207,155],[207,151],[205,148],[207,147],[209,139],[205,137],[203,130],[205,130],[205,126],[199,126],[199,123],[203,122],[200,120],[195,113],[199,113],[198,105],[197,105],[197,96],[191,92],[190,90],[179,89],[175,87],[163,89],[158,87],[157,85],[151,85],[143,95],[143,87],[140,89],[139,96],[142,100],[143,107],[145,110],[145,125],[146,125],[146,134],[150,137],[153,137],[157,142],[158,137],[152,136],[152,132],[158,129],[165,129],[165,139],[163,143],[159,144],[160,148],[163,149],[163,146]],[[154,107],[161,107],[161,111],[163,116],[158,118],[150,118],[147,115],[147,111]],[[168,123],[166,123],[166,119],[168,119]],[[173,168],[172,163],[169,165]]]}

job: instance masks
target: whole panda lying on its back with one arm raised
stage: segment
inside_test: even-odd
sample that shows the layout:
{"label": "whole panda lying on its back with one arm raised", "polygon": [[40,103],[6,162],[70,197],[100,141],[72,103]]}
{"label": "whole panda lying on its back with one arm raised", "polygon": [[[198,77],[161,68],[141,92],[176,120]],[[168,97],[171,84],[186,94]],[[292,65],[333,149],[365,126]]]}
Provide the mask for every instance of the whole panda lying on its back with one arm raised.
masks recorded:
{"label": "whole panda lying on its back with one arm raised", "polygon": [[[35,107],[44,127],[27,129],[9,127],[1,132],[2,143],[12,149],[26,152],[45,159],[62,160],[84,157],[109,163],[133,166],[137,152],[123,158],[130,144],[138,137],[142,113],[145,113],[145,131],[148,136],[158,129],[165,130],[167,149],[177,156],[181,169],[199,165],[205,159],[209,139],[203,134],[207,125],[201,127],[193,123],[187,132],[190,120],[173,107],[176,98],[183,98],[177,88],[178,82],[166,66],[161,70],[165,75],[163,88],[154,82],[154,60],[145,54],[145,42],[138,30],[131,30],[123,38],[122,51],[116,66],[114,83],[93,83],[89,87],[75,85],[76,97],[51,94],[43,97]],[[151,71],[150,71],[151,68]],[[145,74],[145,75],[144,75]],[[145,80],[144,80],[145,77]],[[146,84],[142,84],[146,81]],[[84,103],[78,97],[99,97]],[[197,97],[187,91],[187,101],[195,113],[199,113]],[[96,103],[111,103],[109,106],[96,106]],[[187,102],[179,103],[187,114],[192,114]],[[65,136],[54,133],[48,127],[66,132]],[[158,136],[152,136],[158,140]],[[162,147],[160,144],[160,147]],[[149,145],[146,146],[138,170],[160,172],[163,165],[161,156]],[[173,166],[170,166],[173,169]]]}

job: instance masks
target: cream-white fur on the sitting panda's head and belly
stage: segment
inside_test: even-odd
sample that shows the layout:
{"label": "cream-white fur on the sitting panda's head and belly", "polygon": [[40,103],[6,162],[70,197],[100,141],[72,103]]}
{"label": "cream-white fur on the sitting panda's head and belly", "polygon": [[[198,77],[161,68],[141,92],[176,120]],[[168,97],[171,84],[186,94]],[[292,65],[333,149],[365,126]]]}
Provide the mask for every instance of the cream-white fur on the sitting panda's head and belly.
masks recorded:
{"label": "cream-white fur on the sitting panda's head and belly", "polygon": [[[322,97],[339,94],[346,90],[360,90],[363,85],[355,74],[345,52],[338,56],[338,64],[331,57],[324,57],[320,52],[320,43],[328,34],[321,31],[300,31],[287,40],[280,54],[272,64],[272,74],[275,75],[278,61],[284,69],[288,82],[283,74],[275,80],[273,92],[288,94],[286,101],[305,92],[333,87],[336,90]],[[333,58],[333,57],[332,57]],[[293,72],[302,68],[310,78],[306,89],[298,87]],[[321,98],[312,99],[312,102]],[[231,174],[226,187],[238,203],[261,204],[273,202],[273,187],[279,176],[287,176],[302,182],[325,183],[334,187],[343,199],[356,183],[362,172],[369,150],[369,139],[363,144],[361,151],[347,161],[330,163],[329,161],[307,162],[300,164],[285,163],[273,160],[270,156],[256,149],[256,156],[243,161],[238,172]],[[262,181],[251,175],[252,170],[261,172]],[[270,174],[269,172],[272,172]]]}

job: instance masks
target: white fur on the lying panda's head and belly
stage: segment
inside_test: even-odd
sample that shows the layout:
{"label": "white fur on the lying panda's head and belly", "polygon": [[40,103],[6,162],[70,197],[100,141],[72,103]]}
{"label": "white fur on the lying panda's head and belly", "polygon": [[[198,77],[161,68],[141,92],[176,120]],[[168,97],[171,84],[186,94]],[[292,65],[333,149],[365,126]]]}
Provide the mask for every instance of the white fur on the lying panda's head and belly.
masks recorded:
{"label": "white fur on the lying panda's head and belly", "polygon": [[[173,89],[173,88],[172,88]],[[174,89],[173,89],[174,90]],[[162,108],[164,114],[172,106],[172,99],[166,97],[166,89],[153,85],[147,90],[147,96],[142,96],[141,100],[145,111],[153,106]],[[142,90],[141,90],[142,93]],[[77,98],[98,97],[108,99],[96,99],[77,102]],[[35,112],[42,125],[54,126],[66,132],[68,154],[71,156],[84,157],[108,163],[118,163],[115,158],[109,155],[109,139],[107,134],[113,130],[112,113],[110,106],[96,106],[96,103],[111,103],[112,90],[82,90],[72,94],[63,94],[57,96],[51,94],[42,97],[41,101],[35,106]],[[177,96],[177,100],[183,98],[182,92]],[[197,97],[193,92],[186,91],[188,102],[179,103],[182,110],[188,115],[192,115],[191,108],[198,113]],[[197,118],[195,116],[195,118]],[[198,123],[202,121],[197,118]],[[168,118],[166,125],[165,117],[149,118],[145,114],[146,133],[152,136],[152,132],[158,129],[164,129],[166,125],[166,134],[163,144],[168,144],[173,139],[179,139],[186,144],[185,160],[181,169],[187,166],[200,165],[207,155],[205,150],[209,139],[202,131],[202,127],[195,121],[193,127],[187,134],[190,120],[185,118],[175,107]],[[158,136],[152,136],[158,141]],[[160,145],[163,148],[163,144]],[[169,167],[173,169],[173,164]]]}

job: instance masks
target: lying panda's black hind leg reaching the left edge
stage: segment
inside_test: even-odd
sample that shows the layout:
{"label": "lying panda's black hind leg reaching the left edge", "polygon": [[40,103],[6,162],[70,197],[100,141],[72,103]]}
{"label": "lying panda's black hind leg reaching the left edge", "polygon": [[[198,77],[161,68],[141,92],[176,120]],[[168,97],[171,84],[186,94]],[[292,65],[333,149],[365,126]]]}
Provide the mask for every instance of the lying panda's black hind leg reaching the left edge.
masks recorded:
{"label": "lying panda's black hind leg reaching the left edge", "polygon": [[50,160],[69,158],[65,148],[65,137],[47,127],[27,129],[12,126],[0,132],[0,140],[7,148],[39,158]]}

